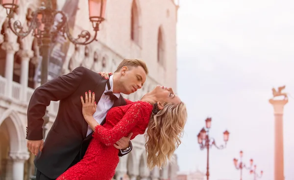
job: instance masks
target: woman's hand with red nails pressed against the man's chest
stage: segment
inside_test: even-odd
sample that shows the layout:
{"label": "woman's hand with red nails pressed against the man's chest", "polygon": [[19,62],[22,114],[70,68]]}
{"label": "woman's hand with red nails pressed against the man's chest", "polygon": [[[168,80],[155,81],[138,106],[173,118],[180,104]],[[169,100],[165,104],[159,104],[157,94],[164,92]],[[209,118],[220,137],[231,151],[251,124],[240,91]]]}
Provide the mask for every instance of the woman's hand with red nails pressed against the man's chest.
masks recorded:
{"label": "woman's hand with red nails pressed against the man's chest", "polygon": [[83,99],[83,96],[81,96],[82,101],[82,112],[84,115],[84,118],[93,117],[93,114],[96,112],[96,101],[95,101],[95,93],[91,93],[91,90],[89,90],[89,93],[85,92],[85,101]]}

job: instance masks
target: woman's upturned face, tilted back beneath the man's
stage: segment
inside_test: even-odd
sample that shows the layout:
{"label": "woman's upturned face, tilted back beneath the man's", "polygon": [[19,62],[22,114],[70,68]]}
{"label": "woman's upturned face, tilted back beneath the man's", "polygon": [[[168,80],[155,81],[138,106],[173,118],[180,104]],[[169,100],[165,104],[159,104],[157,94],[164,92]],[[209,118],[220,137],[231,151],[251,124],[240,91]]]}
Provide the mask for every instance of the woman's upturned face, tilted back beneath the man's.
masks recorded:
{"label": "woman's upturned face, tilted back beneath the man's", "polygon": [[172,88],[157,85],[154,92],[160,109],[163,109],[163,105],[166,103],[178,104],[181,102],[181,99],[173,92]]}

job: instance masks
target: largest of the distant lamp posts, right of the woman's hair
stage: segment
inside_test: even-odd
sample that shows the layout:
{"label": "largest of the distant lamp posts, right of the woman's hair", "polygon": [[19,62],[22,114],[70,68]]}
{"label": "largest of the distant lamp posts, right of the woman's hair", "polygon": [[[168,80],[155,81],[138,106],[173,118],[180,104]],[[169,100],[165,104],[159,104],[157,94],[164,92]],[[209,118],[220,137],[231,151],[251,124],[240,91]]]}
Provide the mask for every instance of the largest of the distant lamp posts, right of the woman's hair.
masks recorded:
{"label": "largest of the distant lamp posts, right of the woman's hair", "polygon": [[226,143],[229,140],[229,132],[225,131],[223,132],[223,140],[224,140],[224,145],[221,146],[217,146],[216,145],[216,141],[214,138],[209,137],[209,130],[211,127],[211,118],[207,118],[205,120],[205,124],[206,124],[206,128],[202,128],[200,130],[200,132],[198,133],[197,137],[198,137],[198,144],[200,146],[200,149],[207,149],[207,167],[206,167],[206,177],[207,180],[209,180],[209,149],[212,146],[215,146],[218,149],[224,149],[226,147]]}

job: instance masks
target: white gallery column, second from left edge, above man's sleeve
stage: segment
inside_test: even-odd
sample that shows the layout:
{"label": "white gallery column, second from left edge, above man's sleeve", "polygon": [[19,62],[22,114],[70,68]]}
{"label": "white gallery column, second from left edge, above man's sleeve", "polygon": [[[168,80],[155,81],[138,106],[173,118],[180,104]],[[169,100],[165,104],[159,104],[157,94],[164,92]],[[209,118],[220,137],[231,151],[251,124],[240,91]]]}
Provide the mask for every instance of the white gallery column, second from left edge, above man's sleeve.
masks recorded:
{"label": "white gallery column, second from left edge, above man's sleeve", "polygon": [[21,80],[20,83],[22,85],[22,95],[21,98],[23,101],[26,101],[26,89],[28,82],[28,65],[29,60],[34,56],[34,51],[30,49],[20,50],[18,51],[19,56],[22,58],[22,67],[21,67]]}

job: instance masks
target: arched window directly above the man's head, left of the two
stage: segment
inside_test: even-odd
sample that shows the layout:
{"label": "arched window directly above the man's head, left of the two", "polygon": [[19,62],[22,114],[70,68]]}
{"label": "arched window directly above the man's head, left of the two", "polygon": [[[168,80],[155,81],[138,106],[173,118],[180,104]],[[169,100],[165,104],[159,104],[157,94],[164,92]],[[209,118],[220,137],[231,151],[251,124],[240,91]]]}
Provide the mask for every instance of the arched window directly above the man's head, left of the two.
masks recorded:
{"label": "arched window directly above the man's head, left of the two", "polygon": [[139,9],[138,4],[135,0],[132,3],[131,9],[131,40],[139,45],[139,34],[140,34],[140,26],[139,26]]}

